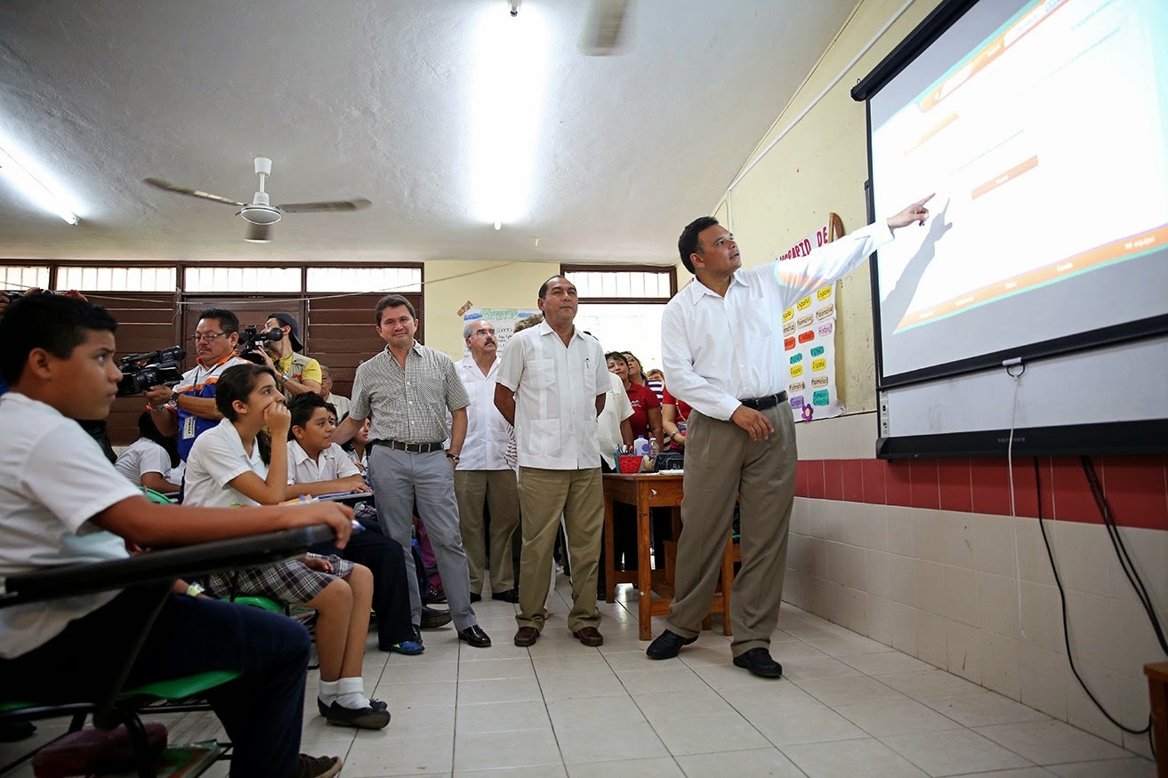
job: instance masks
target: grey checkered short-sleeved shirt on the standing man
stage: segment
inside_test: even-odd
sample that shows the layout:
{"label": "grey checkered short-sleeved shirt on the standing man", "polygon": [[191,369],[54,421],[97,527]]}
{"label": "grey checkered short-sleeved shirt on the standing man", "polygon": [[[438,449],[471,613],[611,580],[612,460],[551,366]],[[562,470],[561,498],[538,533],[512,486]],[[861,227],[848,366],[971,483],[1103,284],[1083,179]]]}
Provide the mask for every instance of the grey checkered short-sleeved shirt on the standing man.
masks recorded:
{"label": "grey checkered short-sleeved shirt on the standing man", "polygon": [[450,437],[446,410],[470,404],[454,361],[413,341],[404,370],[388,346],[357,368],[349,416],[373,416],[370,440],[439,443]]}

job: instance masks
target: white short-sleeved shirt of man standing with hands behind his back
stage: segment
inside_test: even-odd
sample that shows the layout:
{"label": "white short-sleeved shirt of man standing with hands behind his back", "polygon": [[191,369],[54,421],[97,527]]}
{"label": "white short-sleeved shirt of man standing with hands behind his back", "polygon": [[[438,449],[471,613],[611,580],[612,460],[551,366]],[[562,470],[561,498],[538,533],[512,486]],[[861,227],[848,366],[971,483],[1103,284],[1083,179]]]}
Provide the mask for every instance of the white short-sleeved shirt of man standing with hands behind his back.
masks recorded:
{"label": "white short-sleeved shirt of man standing with hands behind his back", "polygon": [[521,467],[600,466],[596,397],[609,391],[604,349],[576,328],[568,346],[548,322],[512,335],[495,381],[515,391]]}

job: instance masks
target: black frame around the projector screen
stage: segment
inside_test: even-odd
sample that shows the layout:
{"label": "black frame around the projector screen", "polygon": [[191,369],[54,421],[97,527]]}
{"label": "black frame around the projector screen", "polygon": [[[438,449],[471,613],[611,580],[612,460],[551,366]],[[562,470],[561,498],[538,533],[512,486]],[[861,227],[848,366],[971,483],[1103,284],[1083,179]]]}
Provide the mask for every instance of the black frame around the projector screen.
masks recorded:
{"label": "black frame around the projector screen", "polygon": [[[868,221],[875,213],[872,167],[872,118],[870,97],[883,89],[922,53],[944,35],[980,0],[943,0],[888,56],[851,90],[851,97],[864,105],[867,125],[868,180],[864,200]],[[1004,457],[1008,449],[1015,456],[1093,456],[1159,454],[1168,452],[1168,418],[1119,421],[1108,423],[1070,423],[1065,425],[1020,429],[939,432],[936,435],[890,435],[887,419],[888,390],[912,387],[937,378],[1004,370],[1008,361],[1040,363],[1059,355],[1104,349],[1110,346],[1150,339],[1168,333],[1168,314],[1154,315],[1103,329],[1022,345],[1000,352],[955,360],[885,376],[883,327],[880,308],[878,251],[869,261],[872,290],[872,336],[876,360],[877,416],[880,436],[876,457],[880,459]]]}

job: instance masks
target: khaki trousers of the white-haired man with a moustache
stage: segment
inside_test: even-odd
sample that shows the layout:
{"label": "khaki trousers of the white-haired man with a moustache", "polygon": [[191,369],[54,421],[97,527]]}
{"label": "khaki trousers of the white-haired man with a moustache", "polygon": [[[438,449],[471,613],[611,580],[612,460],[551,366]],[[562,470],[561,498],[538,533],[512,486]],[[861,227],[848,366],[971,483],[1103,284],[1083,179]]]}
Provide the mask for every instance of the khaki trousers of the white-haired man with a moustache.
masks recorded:
{"label": "khaki trousers of the white-haired man with a moustache", "polygon": [[458,499],[463,548],[471,572],[471,593],[482,593],[482,572],[487,565],[487,539],[482,505],[491,508],[491,591],[515,588],[512,536],[519,527],[519,487],[514,470],[456,470],[454,496]]}

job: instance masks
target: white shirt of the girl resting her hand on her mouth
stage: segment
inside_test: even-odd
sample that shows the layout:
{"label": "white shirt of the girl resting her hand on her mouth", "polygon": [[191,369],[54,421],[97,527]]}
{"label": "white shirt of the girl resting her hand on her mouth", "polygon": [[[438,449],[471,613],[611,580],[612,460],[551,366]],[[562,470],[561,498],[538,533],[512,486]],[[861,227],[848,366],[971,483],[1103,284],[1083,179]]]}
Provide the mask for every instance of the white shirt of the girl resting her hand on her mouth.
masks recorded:
{"label": "white shirt of the girl resting her hand on her mouth", "polygon": [[249,454],[243,447],[239,431],[224,418],[200,435],[195,439],[195,445],[190,447],[182,505],[200,508],[259,505],[228,486],[249,471],[262,479],[267,478],[267,465],[259,457],[259,444],[252,443]]}

